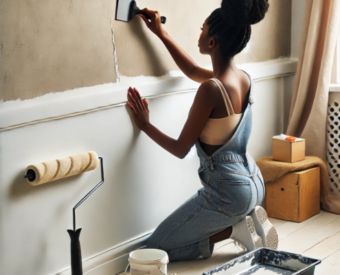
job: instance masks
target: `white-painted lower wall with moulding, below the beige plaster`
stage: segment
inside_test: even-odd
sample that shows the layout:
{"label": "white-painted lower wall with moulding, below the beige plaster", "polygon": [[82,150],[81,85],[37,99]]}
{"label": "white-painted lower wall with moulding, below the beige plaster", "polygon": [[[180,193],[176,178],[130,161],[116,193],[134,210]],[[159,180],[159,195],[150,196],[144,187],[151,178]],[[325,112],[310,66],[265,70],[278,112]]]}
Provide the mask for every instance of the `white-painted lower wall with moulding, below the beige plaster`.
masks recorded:
{"label": "white-painted lower wall with moulding, below the beige plaster", "polygon": [[[258,159],[271,155],[271,137],[284,129],[284,94],[291,89],[286,84],[291,76],[285,75],[295,72],[296,62],[242,69],[254,80],[248,148]],[[126,81],[144,81],[136,86],[150,96],[150,121],[178,137],[198,85],[181,76]],[[72,228],[72,208],[100,181],[96,169],[30,186],[23,178],[29,164],[92,150],[104,157],[104,184],[76,210],[84,272],[93,275],[124,270],[128,252],[144,245],[148,234],[201,187],[194,150],[177,159],[133,124],[121,104],[127,83],[1,105],[1,274],[70,274],[66,230]]]}

